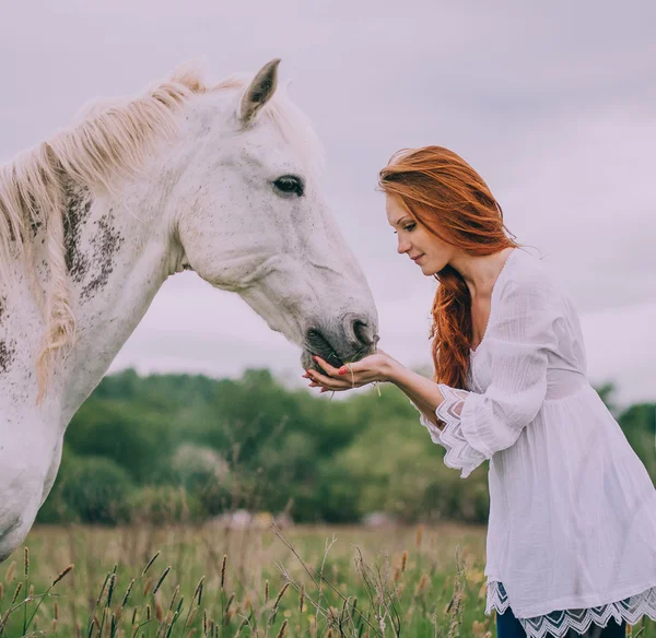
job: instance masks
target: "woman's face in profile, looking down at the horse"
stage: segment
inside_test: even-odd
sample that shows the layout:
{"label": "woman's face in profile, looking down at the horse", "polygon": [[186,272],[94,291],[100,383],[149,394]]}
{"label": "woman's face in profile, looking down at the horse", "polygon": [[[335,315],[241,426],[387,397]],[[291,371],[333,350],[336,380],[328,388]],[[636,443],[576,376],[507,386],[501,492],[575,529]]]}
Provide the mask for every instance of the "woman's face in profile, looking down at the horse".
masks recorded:
{"label": "woman's face in profile, looking down at the horse", "polygon": [[426,276],[440,272],[452,261],[457,248],[429,233],[393,194],[386,196],[387,221],[398,237],[400,255],[407,255]]}

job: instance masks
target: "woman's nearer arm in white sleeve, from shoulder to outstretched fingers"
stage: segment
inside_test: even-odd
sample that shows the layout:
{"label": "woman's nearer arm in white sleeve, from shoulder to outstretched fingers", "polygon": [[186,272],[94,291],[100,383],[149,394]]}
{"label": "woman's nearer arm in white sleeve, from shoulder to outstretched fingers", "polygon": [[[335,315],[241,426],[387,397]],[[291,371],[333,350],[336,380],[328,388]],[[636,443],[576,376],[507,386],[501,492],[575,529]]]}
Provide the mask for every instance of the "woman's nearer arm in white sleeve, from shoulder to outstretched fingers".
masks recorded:
{"label": "woman's nearer arm in white sleeve, from shoulder to outstretched fingers", "polygon": [[[534,422],[547,397],[549,353],[558,351],[562,299],[548,283],[509,282],[502,310],[485,336],[492,378],[482,393],[434,383],[380,354],[339,370],[319,361],[330,376],[312,373],[312,385],[348,390],[372,381],[394,382],[421,403],[431,439],[447,450],[444,463],[461,469],[466,478],[485,459],[513,446]],[[435,426],[433,418],[445,425]]]}

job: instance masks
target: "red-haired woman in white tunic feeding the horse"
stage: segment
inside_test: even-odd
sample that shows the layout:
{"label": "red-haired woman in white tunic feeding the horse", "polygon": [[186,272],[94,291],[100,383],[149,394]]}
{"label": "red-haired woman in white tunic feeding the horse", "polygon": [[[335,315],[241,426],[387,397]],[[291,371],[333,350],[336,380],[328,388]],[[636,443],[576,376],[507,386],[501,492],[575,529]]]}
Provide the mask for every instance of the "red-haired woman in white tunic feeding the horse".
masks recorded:
{"label": "red-haired woman in white tunic feeding the horse", "polygon": [[490,461],[485,614],[500,638],[610,638],[656,619],[656,489],[586,378],[571,300],[455,153],[398,153],[379,185],[398,251],[440,282],[434,381],[383,352],[339,369],[316,357],[323,371],[304,377],[321,392],[393,382],[446,465],[466,477]]}

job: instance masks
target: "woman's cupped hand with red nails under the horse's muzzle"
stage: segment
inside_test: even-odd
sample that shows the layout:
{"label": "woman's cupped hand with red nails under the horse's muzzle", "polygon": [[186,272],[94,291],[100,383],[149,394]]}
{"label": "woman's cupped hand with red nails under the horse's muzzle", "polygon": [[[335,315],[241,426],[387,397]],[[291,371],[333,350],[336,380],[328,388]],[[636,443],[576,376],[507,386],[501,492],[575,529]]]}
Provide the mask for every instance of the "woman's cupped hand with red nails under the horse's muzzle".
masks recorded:
{"label": "woman's cupped hand with red nails under the horse's muzzle", "polygon": [[344,364],[341,368],[332,367],[319,356],[313,358],[326,374],[306,370],[303,378],[311,379],[311,388],[321,388],[320,392],[328,390],[341,392],[375,381],[391,381],[401,365],[380,350],[377,354],[372,354],[353,364]]}

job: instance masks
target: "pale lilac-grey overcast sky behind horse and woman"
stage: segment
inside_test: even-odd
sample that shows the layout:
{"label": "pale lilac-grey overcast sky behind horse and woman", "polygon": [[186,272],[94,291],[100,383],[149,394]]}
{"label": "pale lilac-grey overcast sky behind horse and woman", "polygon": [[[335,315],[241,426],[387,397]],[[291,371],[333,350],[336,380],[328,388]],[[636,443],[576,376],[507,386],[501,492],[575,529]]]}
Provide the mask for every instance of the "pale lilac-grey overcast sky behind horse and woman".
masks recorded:
{"label": "pale lilac-grey overcast sky behind horse and woman", "polygon": [[[433,280],[396,253],[376,175],[400,147],[462,155],[576,304],[588,374],[656,400],[656,4],[97,0],[1,2],[0,161],[89,99],[189,59],[208,80],[281,57],[326,146],[326,192],[367,275],[380,346],[430,363]],[[387,8],[389,7],[389,9]],[[295,346],[236,296],[169,279],[113,370],[300,379]]]}

